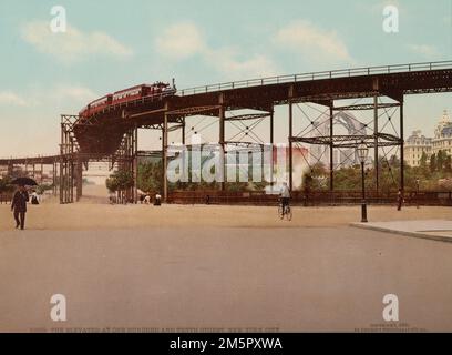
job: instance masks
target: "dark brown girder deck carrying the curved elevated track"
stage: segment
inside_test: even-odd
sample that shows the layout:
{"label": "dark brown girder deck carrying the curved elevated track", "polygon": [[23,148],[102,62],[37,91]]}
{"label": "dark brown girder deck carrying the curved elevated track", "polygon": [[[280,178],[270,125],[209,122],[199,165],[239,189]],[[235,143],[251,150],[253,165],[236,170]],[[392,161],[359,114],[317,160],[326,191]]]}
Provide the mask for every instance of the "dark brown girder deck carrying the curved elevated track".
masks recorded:
{"label": "dark brown girder deck carrying the curved elevated track", "polygon": [[[205,90],[204,90],[205,89]],[[218,116],[222,105],[253,109],[288,102],[317,102],[329,105],[332,100],[387,95],[401,102],[404,94],[452,91],[452,62],[415,63],[379,68],[358,68],[342,71],[285,75],[248,80],[236,83],[208,85],[204,89],[178,91],[158,101],[137,100],[112,106],[91,119],[80,118],[73,123],[74,135],[85,152],[113,151],[119,143],[122,111],[146,114],[132,119],[138,126],[168,122],[177,115]],[[185,92],[185,94],[184,94]],[[363,108],[356,108],[356,110]],[[369,109],[370,110],[370,109]],[[69,116],[69,115],[68,115]],[[129,121],[129,120],[127,120]]]}

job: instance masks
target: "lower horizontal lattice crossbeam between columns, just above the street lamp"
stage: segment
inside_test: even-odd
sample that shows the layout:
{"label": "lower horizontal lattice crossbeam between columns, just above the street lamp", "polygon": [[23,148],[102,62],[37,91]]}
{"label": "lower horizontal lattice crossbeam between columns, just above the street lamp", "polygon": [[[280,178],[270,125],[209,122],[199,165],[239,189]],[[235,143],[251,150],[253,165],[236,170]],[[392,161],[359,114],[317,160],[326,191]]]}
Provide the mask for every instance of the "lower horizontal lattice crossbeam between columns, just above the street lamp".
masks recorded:
{"label": "lower horizontal lattice crossbeam between columns, just above the street lamp", "polygon": [[330,136],[311,136],[311,138],[300,138],[292,136],[290,141],[294,143],[306,143],[312,145],[331,145],[333,148],[358,148],[362,142],[366,143],[368,148],[376,148],[376,135],[378,138],[378,146],[396,146],[403,144],[403,140],[399,136],[378,133],[372,135],[333,135]]}

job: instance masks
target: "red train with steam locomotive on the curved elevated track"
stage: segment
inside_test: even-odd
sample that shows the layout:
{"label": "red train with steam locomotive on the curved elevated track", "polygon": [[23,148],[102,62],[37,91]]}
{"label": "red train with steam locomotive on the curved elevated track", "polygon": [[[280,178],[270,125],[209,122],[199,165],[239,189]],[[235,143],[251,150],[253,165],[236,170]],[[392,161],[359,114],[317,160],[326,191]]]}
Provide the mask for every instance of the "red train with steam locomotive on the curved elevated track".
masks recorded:
{"label": "red train with steam locomotive on the curved elevated track", "polygon": [[164,82],[155,82],[153,84],[140,84],[114,93],[109,93],[105,97],[96,99],[84,106],[79,116],[90,118],[99,112],[102,112],[109,106],[116,104],[129,103],[140,99],[162,99],[176,93],[176,87],[173,79],[173,85]]}

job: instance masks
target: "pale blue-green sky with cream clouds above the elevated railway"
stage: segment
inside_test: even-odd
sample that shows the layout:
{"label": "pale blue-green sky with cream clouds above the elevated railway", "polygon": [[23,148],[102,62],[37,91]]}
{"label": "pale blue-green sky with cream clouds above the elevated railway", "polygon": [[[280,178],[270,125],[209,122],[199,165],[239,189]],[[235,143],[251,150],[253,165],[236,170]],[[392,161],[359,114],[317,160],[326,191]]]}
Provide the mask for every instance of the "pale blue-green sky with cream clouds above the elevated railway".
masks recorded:
{"label": "pale blue-green sky with cream clouds above the elevated railway", "polygon": [[[55,6],[65,32],[50,31]],[[396,33],[383,30],[387,6],[399,10]],[[451,16],[452,0],[2,0],[0,156],[56,153],[60,114],[137,83],[449,60]],[[407,98],[405,131],[432,135],[445,109],[451,94]],[[277,111],[280,142],[286,115]],[[152,134],[143,148],[158,146]]]}

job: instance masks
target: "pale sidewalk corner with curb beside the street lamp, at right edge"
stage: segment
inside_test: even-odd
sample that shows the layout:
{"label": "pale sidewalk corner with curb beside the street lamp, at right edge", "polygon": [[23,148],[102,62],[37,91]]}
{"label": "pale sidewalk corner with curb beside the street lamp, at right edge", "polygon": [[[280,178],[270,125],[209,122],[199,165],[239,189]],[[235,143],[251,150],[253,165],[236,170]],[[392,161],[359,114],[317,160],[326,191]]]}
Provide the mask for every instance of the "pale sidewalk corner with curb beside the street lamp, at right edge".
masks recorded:
{"label": "pale sidewalk corner with curb beside the street lamp, at right edge", "polygon": [[452,221],[446,220],[352,223],[351,226],[452,243]]}

